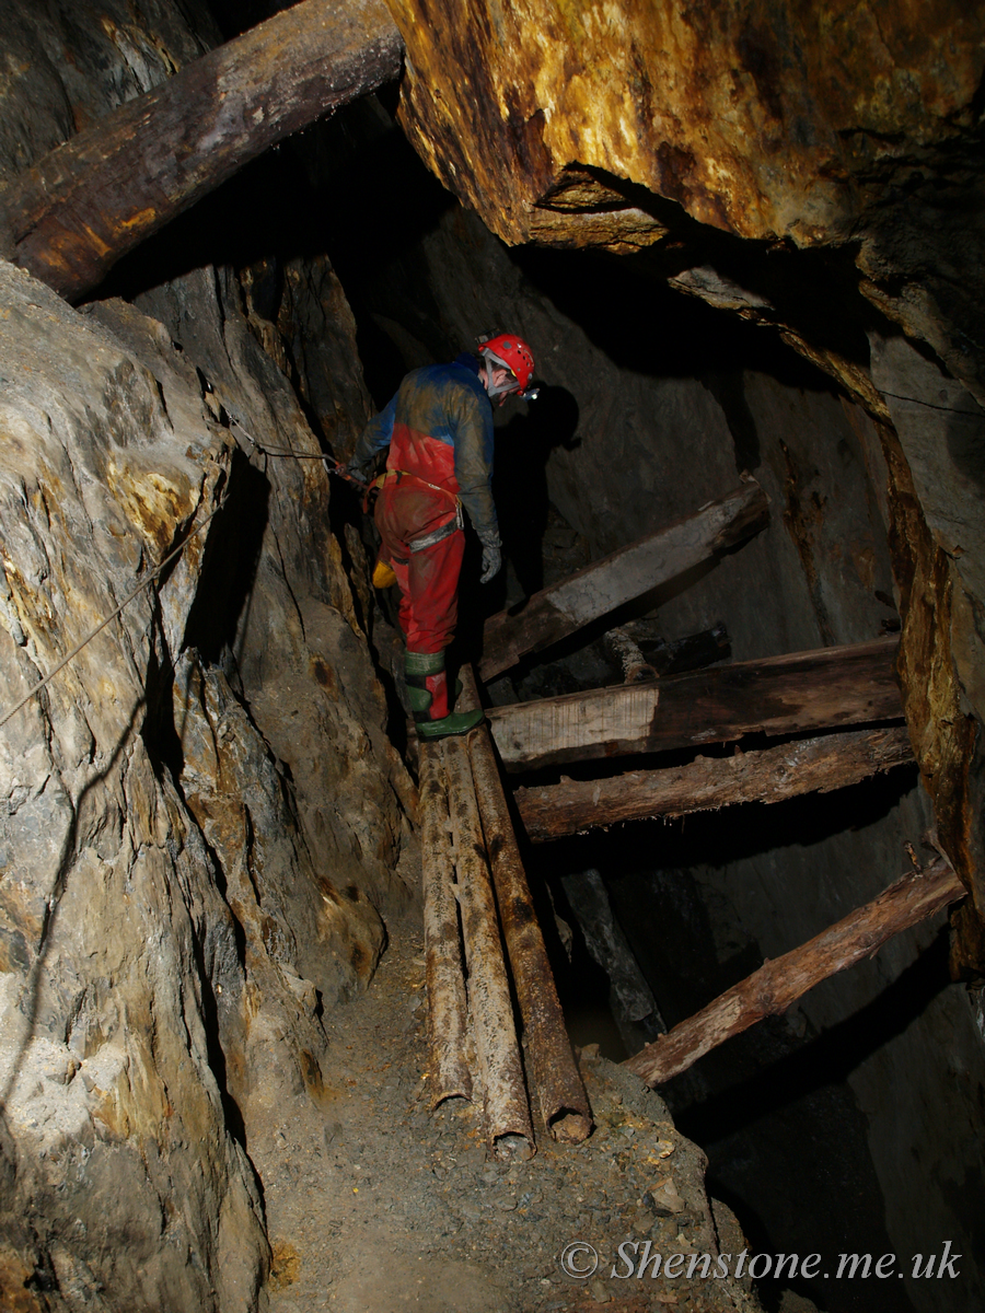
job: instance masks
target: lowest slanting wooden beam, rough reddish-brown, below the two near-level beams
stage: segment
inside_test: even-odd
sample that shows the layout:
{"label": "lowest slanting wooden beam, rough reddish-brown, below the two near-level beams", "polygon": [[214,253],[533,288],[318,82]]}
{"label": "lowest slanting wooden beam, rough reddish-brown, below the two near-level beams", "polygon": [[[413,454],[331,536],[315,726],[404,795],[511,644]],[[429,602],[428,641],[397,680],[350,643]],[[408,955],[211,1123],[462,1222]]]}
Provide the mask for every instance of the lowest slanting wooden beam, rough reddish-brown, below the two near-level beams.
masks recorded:
{"label": "lowest slanting wooden beam, rough reddish-brown, below the two near-level beams", "polygon": [[814,985],[871,957],[893,935],[926,920],[965,893],[951,864],[939,857],[922,873],[904,876],[873,902],[806,944],[764,962],[708,1007],[647,1044],[625,1066],[649,1086],[663,1085],[709,1049],[764,1016],[784,1012]]}

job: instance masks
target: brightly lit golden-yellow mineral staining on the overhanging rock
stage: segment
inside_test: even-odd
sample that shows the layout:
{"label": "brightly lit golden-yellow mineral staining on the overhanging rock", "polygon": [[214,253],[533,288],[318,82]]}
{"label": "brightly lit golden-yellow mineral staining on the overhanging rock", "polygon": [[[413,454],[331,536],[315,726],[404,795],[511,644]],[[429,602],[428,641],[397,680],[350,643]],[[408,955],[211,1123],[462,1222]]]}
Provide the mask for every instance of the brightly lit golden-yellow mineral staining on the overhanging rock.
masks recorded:
{"label": "brightly lit golden-yellow mineral staining on the overhanging rock", "polygon": [[[535,213],[570,160],[742,236],[839,240],[851,169],[885,148],[860,148],[856,131],[919,142],[980,80],[971,17],[886,5],[879,21],[871,5],[827,3],[756,22],[674,0],[429,0],[426,21],[420,0],[393,0],[408,53],[401,118],[507,242],[599,244],[575,211]],[[638,243],[636,218],[624,223],[611,242]]]}

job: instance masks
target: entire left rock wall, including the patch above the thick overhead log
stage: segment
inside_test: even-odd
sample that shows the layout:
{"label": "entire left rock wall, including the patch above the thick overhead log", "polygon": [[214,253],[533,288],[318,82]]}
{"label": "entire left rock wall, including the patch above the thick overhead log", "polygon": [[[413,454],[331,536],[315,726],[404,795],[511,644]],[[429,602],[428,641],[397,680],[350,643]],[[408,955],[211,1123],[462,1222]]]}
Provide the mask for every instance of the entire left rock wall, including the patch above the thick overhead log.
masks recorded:
{"label": "entire left rock wall, including the patch above the thick overhead log", "polygon": [[[211,39],[189,7],[8,9],[9,171]],[[274,324],[252,273],[177,268],[81,310],[0,268],[0,716],[51,672],[0,727],[5,1308],[255,1308],[277,1128],[323,1134],[322,1012],[414,899],[305,410],[343,444],[368,414],[344,294],[298,261]]]}

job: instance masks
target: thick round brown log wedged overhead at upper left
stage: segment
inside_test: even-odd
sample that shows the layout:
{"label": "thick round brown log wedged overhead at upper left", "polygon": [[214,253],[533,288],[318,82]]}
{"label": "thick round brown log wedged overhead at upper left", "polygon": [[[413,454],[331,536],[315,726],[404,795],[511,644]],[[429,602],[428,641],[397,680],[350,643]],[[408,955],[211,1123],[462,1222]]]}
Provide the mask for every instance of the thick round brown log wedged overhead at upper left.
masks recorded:
{"label": "thick round brown log wedged overhead at upper left", "polygon": [[0,255],[68,301],[260,155],[399,76],[383,0],[302,0],[186,64],[0,193]]}

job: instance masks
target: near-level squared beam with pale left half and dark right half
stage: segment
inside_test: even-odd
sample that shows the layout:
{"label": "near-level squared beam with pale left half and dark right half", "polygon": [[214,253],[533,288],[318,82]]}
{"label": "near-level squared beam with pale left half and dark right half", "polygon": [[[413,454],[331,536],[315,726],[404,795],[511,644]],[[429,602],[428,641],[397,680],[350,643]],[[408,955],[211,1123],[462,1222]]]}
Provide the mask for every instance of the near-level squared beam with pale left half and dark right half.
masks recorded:
{"label": "near-level squared beam with pale left half and dark right half", "polygon": [[657,684],[628,684],[494,706],[508,771],[630,752],[728,743],[902,718],[897,639],[737,662]]}

